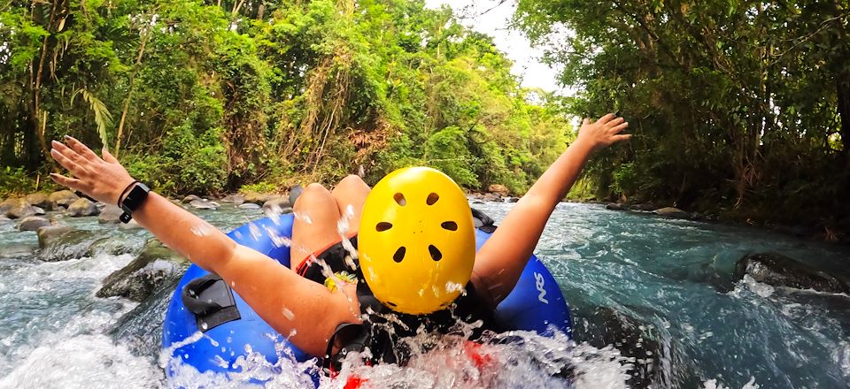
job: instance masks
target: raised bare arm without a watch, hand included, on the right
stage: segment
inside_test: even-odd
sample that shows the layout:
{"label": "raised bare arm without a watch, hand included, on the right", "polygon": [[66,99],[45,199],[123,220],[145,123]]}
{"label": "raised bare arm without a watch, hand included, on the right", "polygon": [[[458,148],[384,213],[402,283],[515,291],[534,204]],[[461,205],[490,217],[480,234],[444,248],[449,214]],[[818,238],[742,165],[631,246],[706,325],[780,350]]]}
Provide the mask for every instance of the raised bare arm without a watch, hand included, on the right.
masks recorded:
{"label": "raised bare arm without a watch, hand included, on the right", "polygon": [[486,290],[492,307],[514,290],[522,270],[537,247],[540,234],[555,206],[567,195],[591,154],[631,135],[621,134],[629,126],[608,114],[594,123],[585,118],[578,138],[516,202],[490,240],[475,256],[473,282]]}

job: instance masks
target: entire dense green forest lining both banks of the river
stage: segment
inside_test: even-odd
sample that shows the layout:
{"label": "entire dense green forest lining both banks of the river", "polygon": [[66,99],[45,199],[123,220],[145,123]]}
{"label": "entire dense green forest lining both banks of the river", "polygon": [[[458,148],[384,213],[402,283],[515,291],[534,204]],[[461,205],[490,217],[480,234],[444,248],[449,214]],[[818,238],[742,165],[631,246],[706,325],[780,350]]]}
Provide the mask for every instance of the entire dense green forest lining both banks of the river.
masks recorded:
{"label": "entire dense green forest lining both banks of the river", "polygon": [[572,195],[850,231],[846,0],[483,3],[513,5],[576,95],[522,88],[420,0],[0,4],[0,190],[44,185],[70,134],[173,194],[410,164],[522,194],[573,118],[619,111],[633,140]]}

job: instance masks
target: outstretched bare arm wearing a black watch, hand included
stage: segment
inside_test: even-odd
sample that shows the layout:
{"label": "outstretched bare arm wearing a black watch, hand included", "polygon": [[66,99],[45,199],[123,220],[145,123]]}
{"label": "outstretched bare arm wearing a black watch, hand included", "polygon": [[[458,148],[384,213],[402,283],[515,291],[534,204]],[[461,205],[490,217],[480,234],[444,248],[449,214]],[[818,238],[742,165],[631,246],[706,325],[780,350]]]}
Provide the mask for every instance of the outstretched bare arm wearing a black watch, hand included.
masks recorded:
{"label": "outstretched bare arm wearing a black watch, hand included", "polygon": [[[118,203],[121,192],[134,181],[127,170],[105,149],[102,159],[80,141],[70,137],[66,141],[67,146],[53,141],[50,154],[74,177],[50,177],[98,201]],[[290,341],[307,353],[323,355],[336,324],[358,321],[345,294],[332,293],[274,259],[236,244],[165,197],[151,192],[133,218],[169,248],[224,278],[275,330],[284,335],[295,332]]]}

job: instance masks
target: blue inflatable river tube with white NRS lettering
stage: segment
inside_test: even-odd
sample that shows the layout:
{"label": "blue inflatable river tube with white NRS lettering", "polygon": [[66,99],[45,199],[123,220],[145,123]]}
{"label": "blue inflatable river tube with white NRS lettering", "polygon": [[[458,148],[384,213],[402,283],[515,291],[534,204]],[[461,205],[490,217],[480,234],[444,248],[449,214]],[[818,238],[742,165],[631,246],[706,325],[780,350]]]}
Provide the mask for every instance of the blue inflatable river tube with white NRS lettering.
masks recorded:
{"label": "blue inflatable river tube with white NRS lettering", "polygon": [[[292,221],[292,214],[267,217],[236,228],[228,236],[289,267]],[[481,248],[490,235],[476,230],[476,249]],[[200,373],[213,372],[229,378],[242,370],[243,362],[240,361],[249,358],[249,354],[265,356],[272,366],[281,357],[294,358],[298,362],[313,358],[290,345],[229,288],[225,288],[228,290],[224,299],[229,297],[229,302],[221,302],[221,305],[230,303],[232,307],[225,309],[226,312],[212,314],[212,318],[200,319],[193,313],[193,310],[197,312],[197,307],[186,305],[191,301],[187,301],[184,289],[209,276],[209,272],[191,265],[168,305],[162,347],[166,358],[167,355],[171,358],[165,366],[169,380],[179,374],[181,365],[189,365]],[[495,316],[500,329],[505,331],[526,330],[548,335],[556,329],[569,334],[572,326],[567,302],[555,278],[535,256],[529,260],[514,291],[498,305]],[[223,322],[216,324],[217,321]],[[318,370],[310,374],[313,383],[318,385]]]}

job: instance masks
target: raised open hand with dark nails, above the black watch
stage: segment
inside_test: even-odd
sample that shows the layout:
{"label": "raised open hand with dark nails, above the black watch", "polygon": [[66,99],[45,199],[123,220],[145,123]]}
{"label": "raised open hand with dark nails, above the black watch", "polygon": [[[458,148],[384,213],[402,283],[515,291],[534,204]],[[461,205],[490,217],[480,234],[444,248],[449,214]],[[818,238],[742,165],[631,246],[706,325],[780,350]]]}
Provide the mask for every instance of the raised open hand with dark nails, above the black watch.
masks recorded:
{"label": "raised open hand with dark nails, above the black watch", "polygon": [[66,144],[51,143],[50,156],[65,167],[73,177],[50,173],[50,178],[60,185],[79,190],[89,197],[110,204],[118,204],[118,197],[133,178],[104,148],[104,157],[97,156],[81,141],[66,136]]}

